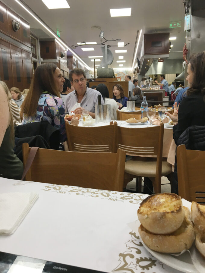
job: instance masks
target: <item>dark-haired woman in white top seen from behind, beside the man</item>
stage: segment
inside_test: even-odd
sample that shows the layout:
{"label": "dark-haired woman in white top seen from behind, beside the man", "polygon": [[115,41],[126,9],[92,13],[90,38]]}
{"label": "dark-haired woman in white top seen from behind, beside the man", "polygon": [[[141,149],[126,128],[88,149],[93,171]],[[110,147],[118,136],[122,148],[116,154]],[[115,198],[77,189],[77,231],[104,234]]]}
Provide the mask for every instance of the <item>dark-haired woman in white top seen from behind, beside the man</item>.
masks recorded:
{"label": "dark-haired woman in white top seen from behind, beside the man", "polygon": [[103,97],[104,103],[105,104],[110,104],[110,116],[111,120],[116,121],[117,120],[117,110],[118,110],[118,105],[117,102],[114,99],[109,99],[109,91],[108,88],[105,84],[100,83],[96,86],[96,90],[99,91]]}

